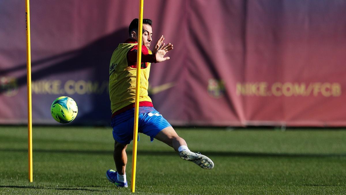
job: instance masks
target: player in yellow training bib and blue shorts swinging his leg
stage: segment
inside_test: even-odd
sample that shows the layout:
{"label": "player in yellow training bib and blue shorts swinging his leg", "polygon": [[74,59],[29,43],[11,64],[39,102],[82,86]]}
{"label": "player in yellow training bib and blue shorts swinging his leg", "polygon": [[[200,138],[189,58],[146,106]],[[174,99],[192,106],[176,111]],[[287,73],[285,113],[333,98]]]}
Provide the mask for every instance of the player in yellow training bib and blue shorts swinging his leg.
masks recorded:
{"label": "player in yellow training bib and blue shorts swinging his leg", "polygon": [[[142,61],[140,68],[139,117],[138,132],[150,136],[173,147],[180,158],[192,161],[203,169],[212,169],[214,163],[200,153],[191,152],[185,140],[179,137],[172,126],[153,107],[148,96],[148,77],[151,63],[170,59],[165,54],[173,49],[173,44],[165,45],[164,36],[149,50],[152,42],[152,20],[143,19]],[[126,180],[126,147],[133,139],[135,89],[137,68],[138,19],[133,19],[129,26],[129,39],[119,44],[114,50],[109,64],[109,97],[111,101],[114,153],[116,170],[106,172],[107,179],[118,187],[127,187]]]}

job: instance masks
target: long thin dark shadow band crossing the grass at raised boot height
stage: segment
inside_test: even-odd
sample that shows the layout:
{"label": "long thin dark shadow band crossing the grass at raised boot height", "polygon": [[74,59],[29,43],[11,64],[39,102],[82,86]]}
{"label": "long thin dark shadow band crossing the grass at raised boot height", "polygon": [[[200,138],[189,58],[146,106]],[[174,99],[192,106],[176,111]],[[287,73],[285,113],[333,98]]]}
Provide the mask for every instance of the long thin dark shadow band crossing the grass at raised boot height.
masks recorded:
{"label": "long thin dark shadow band crossing the grass at raised boot height", "polygon": [[[0,152],[28,152],[27,149],[0,149]],[[52,150],[52,149],[35,149],[33,152],[43,153],[70,153],[70,154],[99,154],[99,155],[113,155],[112,150]],[[132,150],[126,151],[128,154],[132,153]],[[313,158],[324,158],[324,157],[345,157],[346,154],[297,154],[297,153],[264,153],[264,152],[201,152],[207,156],[249,156],[249,157],[313,157]],[[165,155],[177,155],[175,151],[137,151],[138,155],[149,155],[149,156],[165,156]]]}

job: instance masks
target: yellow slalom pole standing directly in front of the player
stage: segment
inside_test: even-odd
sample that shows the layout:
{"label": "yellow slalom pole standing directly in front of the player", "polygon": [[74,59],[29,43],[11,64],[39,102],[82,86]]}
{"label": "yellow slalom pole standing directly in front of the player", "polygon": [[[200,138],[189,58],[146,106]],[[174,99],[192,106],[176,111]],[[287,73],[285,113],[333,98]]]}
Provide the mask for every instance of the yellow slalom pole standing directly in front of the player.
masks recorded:
{"label": "yellow slalom pole standing directly in front of the player", "polygon": [[133,128],[132,174],[131,174],[131,191],[132,192],[135,192],[135,185],[136,185],[138,112],[139,112],[138,109],[139,109],[139,88],[140,88],[140,67],[141,67],[140,62],[142,58],[142,29],[143,29],[143,0],[139,0],[135,122],[134,122],[134,128]]}

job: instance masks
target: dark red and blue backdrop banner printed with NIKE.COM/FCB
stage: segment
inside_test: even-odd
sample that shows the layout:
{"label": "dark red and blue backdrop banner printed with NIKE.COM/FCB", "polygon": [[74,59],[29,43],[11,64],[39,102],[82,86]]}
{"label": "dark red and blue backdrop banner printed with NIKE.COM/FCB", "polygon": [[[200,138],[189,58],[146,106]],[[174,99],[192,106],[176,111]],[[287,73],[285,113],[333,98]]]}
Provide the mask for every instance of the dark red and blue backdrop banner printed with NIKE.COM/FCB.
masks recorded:
{"label": "dark red and blue backdrop banner printed with NIKE.COM/FCB", "polygon": [[[34,124],[57,124],[50,106],[62,95],[78,104],[74,124],[109,124],[109,61],[137,0],[30,3]],[[0,2],[1,124],[27,121],[24,6]],[[338,0],[145,0],[154,41],[174,44],[151,68],[154,107],[172,125],[346,126],[345,10]]]}

